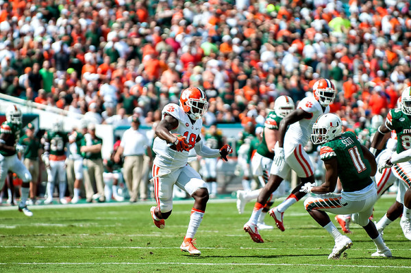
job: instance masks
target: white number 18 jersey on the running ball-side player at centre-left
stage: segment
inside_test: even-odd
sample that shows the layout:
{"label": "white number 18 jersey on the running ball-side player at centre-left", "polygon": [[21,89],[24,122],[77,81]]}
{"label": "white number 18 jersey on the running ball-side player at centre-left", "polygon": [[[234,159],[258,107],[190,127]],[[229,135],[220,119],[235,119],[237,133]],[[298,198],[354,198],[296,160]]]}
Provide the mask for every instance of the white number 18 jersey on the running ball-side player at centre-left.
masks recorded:
{"label": "white number 18 jersey on the running ball-side player at centre-left", "polygon": [[[179,121],[177,128],[172,129],[170,133],[184,135],[187,139],[190,150],[194,148],[196,140],[201,133],[201,127],[203,127],[203,121],[201,118],[192,124],[186,112],[184,112],[179,105],[174,103],[169,103],[164,106],[164,109],[162,110],[162,118],[166,115],[173,116]],[[155,153],[154,164],[160,168],[182,168],[187,164],[189,152],[177,152],[170,148],[169,144],[161,138],[155,138],[153,151]]]}

